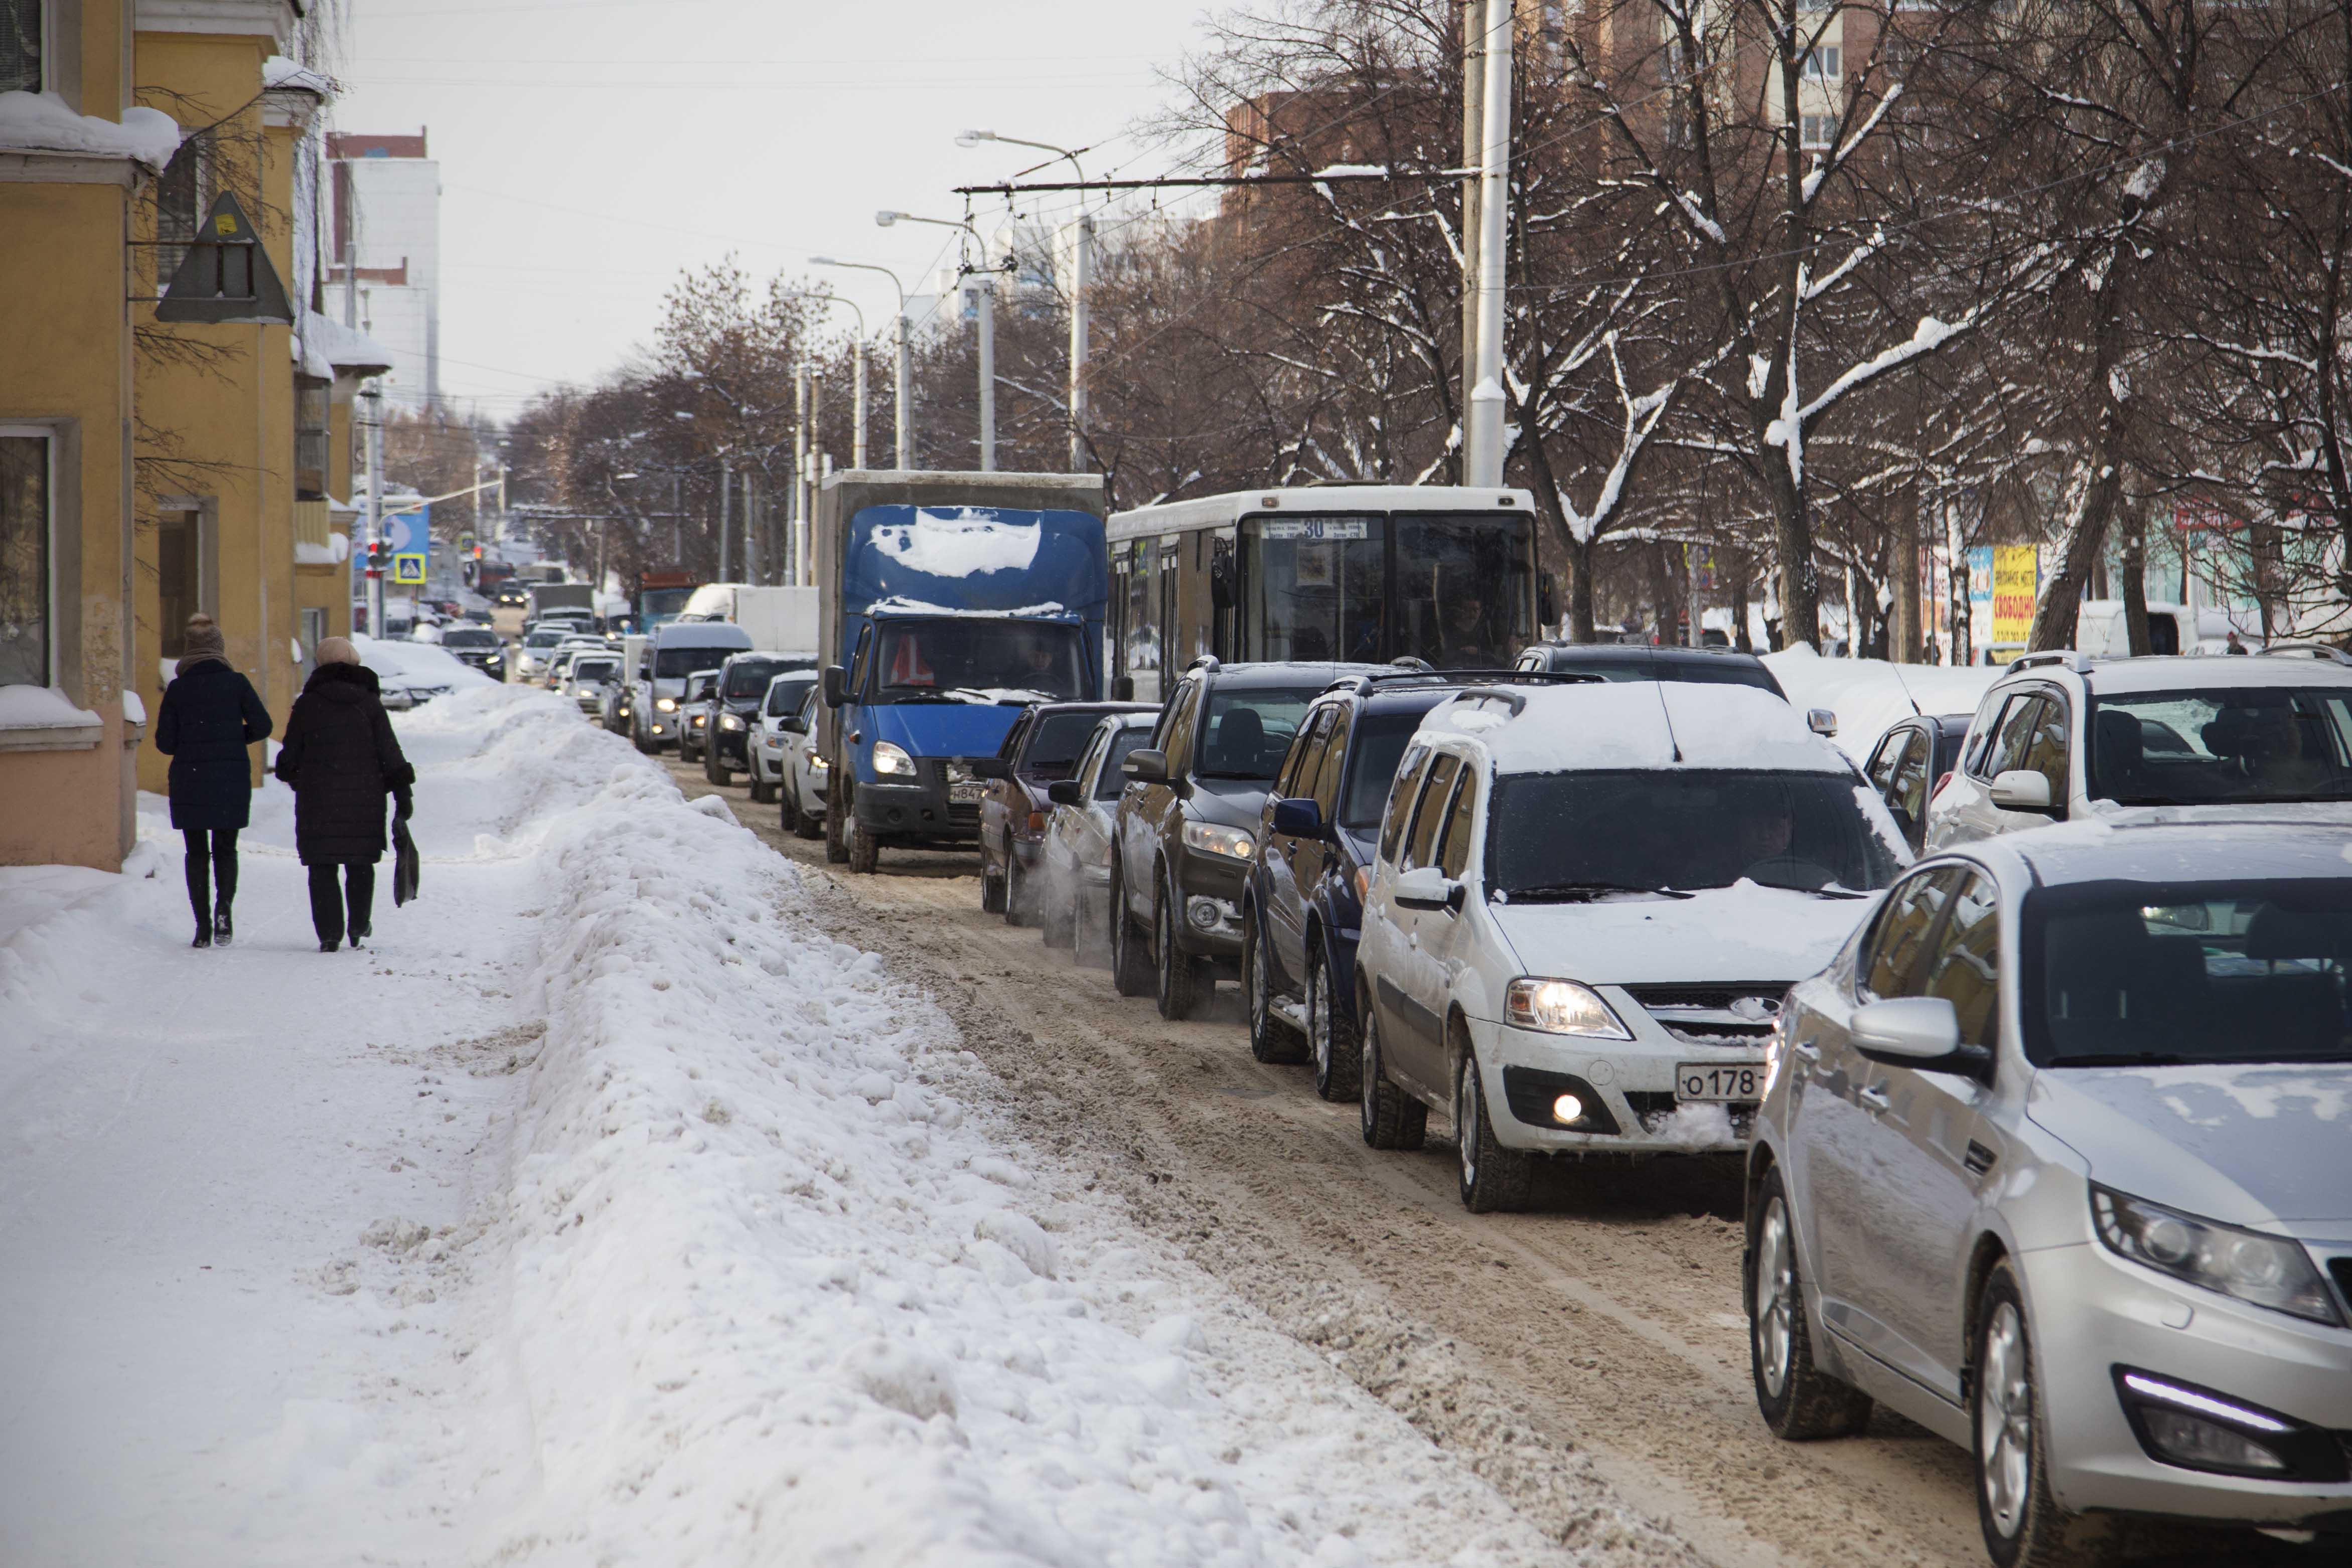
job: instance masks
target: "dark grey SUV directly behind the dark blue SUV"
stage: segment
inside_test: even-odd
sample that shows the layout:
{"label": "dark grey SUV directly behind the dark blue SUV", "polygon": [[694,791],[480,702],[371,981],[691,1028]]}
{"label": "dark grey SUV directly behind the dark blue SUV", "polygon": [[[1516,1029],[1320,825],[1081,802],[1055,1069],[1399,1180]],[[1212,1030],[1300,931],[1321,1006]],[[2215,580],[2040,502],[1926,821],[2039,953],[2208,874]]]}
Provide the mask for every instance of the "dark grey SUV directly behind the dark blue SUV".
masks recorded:
{"label": "dark grey SUV directly behind the dark blue SUV", "polygon": [[1383,668],[1197,658],[1183,672],[1150,745],[1120,764],[1110,976],[1122,997],[1150,990],[1162,1018],[1190,1018],[1218,978],[1240,976],[1242,891],[1265,792],[1315,696],[1341,675]]}

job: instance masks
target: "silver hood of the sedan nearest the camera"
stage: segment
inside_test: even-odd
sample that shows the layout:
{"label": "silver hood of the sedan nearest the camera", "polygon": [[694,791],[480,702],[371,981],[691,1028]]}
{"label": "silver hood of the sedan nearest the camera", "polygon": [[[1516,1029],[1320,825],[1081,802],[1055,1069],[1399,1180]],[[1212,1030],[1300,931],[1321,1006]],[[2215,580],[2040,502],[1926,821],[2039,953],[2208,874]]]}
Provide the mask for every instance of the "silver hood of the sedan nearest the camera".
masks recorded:
{"label": "silver hood of the sedan nearest the camera", "polygon": [[2044,1067],[2025,1114],[2117,1192],[2232,1225],[2352,1220],[2352,1063]]}

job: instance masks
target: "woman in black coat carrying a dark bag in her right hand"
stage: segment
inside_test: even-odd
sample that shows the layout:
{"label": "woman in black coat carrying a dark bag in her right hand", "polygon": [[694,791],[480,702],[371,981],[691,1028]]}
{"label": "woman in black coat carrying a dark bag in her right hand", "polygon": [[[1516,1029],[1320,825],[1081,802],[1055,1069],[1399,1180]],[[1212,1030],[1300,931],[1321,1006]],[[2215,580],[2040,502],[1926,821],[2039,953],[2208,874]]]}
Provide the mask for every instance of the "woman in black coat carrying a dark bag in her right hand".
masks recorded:
{"label": "woman in black coat carrying a dark bag in her right hand", "polygon": [[407,818],[416,769],[393,738],[376,672],[343,637],[318,644],[318,670],[294,698],[287,738],[278,748],[278,778],[294,785],[294,849],[310,867],[318,950],[334,952],[346,933],[358,947],[367,938],[376,860],[383,858],[383,797],[390,795]]}

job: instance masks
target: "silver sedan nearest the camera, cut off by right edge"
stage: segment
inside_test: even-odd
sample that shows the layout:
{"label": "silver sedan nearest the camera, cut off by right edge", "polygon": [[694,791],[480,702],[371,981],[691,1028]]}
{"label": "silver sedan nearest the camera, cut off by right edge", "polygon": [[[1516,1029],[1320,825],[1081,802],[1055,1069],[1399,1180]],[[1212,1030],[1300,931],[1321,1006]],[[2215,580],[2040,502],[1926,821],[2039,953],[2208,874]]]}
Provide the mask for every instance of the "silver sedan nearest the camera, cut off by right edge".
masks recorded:
{"label": "silver sedan nearest the camera, cut off by right edge", "polygon": [[2352,837],[2053,827],[1905,872],[1792,987],[1757,1403],[1969,1448],[2004,1568],[2117,1514],[2352,1528]]}

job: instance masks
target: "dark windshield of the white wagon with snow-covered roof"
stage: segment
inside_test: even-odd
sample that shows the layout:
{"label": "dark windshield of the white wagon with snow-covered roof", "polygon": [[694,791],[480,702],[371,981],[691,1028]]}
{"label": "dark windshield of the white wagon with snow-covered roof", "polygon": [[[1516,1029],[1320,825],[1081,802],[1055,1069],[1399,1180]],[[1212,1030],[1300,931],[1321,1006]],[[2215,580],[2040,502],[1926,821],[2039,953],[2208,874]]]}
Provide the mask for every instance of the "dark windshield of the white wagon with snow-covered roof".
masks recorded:
{"label": "dark windshield of the white wagon with snow-covered roof", "polygon": [[1900,870],[1875,809],[1870,788],[1844,773],[1505,773],[1486,811],[1486,886],[1515,900],[1717,889],[1740,879],[1863,893]]}

